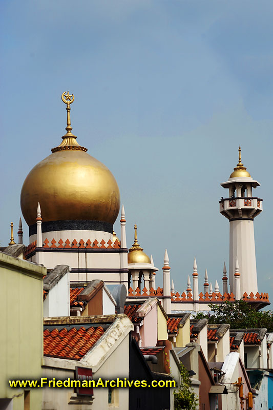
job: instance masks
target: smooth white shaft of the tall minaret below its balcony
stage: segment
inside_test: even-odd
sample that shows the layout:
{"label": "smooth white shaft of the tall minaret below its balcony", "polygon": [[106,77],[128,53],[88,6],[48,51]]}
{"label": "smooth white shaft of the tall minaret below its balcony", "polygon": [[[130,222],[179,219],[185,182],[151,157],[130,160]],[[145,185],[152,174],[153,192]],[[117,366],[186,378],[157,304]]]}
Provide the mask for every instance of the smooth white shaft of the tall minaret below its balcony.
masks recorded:
{"label": "smooth white shaft of the tall minaret below its balcony", "polygon": [[[236,258],[241,270],[240,288],[248,295],[258,292],[253,220],[229,222],[229,276],[235,293]],[[232,280],[233,277],[233,280]]]}

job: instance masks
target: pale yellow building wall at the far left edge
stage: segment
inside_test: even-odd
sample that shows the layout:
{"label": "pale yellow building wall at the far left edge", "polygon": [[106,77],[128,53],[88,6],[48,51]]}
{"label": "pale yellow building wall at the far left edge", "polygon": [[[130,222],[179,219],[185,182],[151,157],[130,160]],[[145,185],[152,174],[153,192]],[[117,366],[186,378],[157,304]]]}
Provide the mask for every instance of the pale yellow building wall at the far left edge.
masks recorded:
{"label": "pale yellow building wall at the far left edge", "polygon": [[[13,397],[13,410],[24,408],[24,390],[8,380],[41,376],[44,275],[46,268],[0,252],[0,398]],[[31,389],[30,410],[41,408],[41,393]]]}

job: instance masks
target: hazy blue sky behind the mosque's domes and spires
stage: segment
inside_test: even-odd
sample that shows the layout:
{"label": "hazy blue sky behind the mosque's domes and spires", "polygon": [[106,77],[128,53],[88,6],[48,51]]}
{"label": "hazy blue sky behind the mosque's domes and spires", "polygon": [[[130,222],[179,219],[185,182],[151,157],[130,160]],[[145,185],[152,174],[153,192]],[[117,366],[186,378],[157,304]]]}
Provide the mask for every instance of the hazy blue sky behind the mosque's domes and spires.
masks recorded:
{"label": "hazy blue sky behind the mosque's domes and spires", "polygon": [[261,183],[258,286],[273,301],[272,2],[4,0],[1,9],[2,245],[26,175],[64,134],[69,89],[73,132],[118,182],[128,244],[137,223],[159,269],[167,248],[181,292],[194,256],[200,285],[205,268],[221,283],[229,227],[219,184],[241,145]]}

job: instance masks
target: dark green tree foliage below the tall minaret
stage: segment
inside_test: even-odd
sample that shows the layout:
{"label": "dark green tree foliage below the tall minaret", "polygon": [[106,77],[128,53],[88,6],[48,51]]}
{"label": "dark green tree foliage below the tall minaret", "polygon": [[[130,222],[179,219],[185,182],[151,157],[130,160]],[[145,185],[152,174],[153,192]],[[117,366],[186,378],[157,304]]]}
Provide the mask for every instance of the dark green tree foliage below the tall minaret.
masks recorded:
{"label": "dark green tree foliage below the tall minaret", "polygon": [[257,312],[244,300],[236,302],[209,303],[211,312],[202,312],[196,315],[196,319],[208,319],[208,323],[230,323],[230,329],[261,329],[266,327],[267,332],[273,332],[273,312]]}

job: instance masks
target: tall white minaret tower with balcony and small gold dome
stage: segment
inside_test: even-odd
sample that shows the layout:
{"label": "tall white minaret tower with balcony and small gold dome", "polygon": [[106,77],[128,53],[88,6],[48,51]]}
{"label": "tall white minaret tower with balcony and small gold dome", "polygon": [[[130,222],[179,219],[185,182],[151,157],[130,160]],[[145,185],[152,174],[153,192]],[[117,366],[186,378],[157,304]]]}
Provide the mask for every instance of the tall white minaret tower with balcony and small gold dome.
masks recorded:
{"label": "tall white minaret tower with balcony and small gold dome", "polygon": [[[253,196],[253,188],[260,183],[246,171],[241,159],[239,147],[239,162],[234,172],[226,182],[221,183],[229,193],[227,198],[221,198],[220,213],[229,220],[229,280],[230,291],[235,294],[235,267],[236,258],[240,265],[241,293],[256,294],[257,271],[254,240],[254,218],[262,208],[262,199]],[[242,296],[242,295],[241,295]]]}

